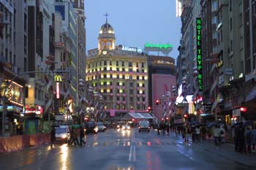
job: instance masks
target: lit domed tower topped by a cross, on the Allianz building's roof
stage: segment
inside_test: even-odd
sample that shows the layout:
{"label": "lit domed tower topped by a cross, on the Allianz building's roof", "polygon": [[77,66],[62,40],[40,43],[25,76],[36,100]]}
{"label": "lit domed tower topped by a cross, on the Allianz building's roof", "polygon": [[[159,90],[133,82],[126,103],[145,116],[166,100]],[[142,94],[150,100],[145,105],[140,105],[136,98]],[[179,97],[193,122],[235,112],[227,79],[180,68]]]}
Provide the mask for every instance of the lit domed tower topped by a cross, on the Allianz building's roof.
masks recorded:
{"label": "lit domed tower topped by a cross, on the Allianz building's roof", "polygon": [[108,23],[108,13],[105,14],[106,23],[103,24],[99,30],[98,36],[98,50],[114,50],[116,36],[112,26]]}

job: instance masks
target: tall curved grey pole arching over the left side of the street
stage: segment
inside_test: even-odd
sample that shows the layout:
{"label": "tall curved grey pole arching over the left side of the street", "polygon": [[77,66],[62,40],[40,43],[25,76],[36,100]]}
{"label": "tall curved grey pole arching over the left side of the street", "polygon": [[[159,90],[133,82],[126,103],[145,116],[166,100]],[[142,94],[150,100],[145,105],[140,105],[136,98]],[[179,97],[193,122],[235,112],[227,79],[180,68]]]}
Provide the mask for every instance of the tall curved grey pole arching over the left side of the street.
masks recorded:
{"label": "tall curved grey pole arching over the left side of the street", "polygon": [[17,74],[15,75],[15,77],[12,77],[12,79],[7,82],[7,85],[4,87],[4,96],[3,96],[3,112],[2,112],[2,115],[1,115],[1,119],[2,119],[2,136],[5,135],[5,115],[7,115],[7,97],[6,97],[6,92],[7,92],[7,88],[11,85],[11,83],[17,78],[17,77],[20,77],[24,74],[32,74],[32,73],[49,73],[49,72],[55,72],[55,73],[67,73],[69,71],[66,71],[66,70],[52,70],[52,71],[31,71],[31,72],[23,72],[23,73],[20,73],[20,74]]}

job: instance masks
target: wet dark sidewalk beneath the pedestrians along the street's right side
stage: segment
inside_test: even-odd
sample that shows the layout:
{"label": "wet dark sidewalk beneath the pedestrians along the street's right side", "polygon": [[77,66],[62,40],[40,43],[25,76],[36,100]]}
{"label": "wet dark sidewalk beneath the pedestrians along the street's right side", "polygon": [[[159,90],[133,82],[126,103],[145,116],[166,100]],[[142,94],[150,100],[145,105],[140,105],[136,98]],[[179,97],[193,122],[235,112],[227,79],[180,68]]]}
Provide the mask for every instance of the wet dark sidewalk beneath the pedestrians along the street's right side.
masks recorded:
{"label": "wet dark sidewalk beneath the pedestrians along the street's right side", "polygon": [[[172,132],[171,135],[175,137],[175,133]],[[177,135],[177,139],[184,142],[181,134]],[[191,135],[189,135],[189,144],[192,146],[197,145],[198,147],[202,147],[206,152],[219,155],[222,158],[229,159],[230,161],[234,161],[236,163],[246,165],[249,168],[255,167],[256,169],[256,150],[252,150],[251,153],[236,152],[235,145],[229,141],[218,146],[214,144],[214,140],[212,139],[206,141],[200,140],[200,142],[192,142]]]}

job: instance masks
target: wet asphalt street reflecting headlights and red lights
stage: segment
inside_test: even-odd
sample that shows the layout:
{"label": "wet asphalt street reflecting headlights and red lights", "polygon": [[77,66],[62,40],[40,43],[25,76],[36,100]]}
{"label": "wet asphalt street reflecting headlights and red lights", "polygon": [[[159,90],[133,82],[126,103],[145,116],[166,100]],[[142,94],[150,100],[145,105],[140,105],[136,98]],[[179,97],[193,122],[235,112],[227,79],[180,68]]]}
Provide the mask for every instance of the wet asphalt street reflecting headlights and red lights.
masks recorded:
{"label": "wet asphalt street reflecting headlights and red lights", "polygon": [[86,146],[49,144],[0,155],[0,169],[256,169],[256,152],[240,154],[233,144],[189,142],[171,133],[108,129],[86,136]]}

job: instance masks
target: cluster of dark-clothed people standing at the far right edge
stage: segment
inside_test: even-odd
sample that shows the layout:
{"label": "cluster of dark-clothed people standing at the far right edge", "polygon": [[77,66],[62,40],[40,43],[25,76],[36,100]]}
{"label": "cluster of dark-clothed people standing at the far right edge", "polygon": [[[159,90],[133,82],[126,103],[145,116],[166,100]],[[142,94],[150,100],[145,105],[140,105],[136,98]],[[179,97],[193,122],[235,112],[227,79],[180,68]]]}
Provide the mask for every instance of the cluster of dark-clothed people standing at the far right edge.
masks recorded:
{"label": "cluster of dark-clothed people standing at the far right edge", "polygon": [[244,128],[238,125],[234,130],[235,150],[238,152],[252,152],[256,145],[256,127],[252,130],[249,127]]}

